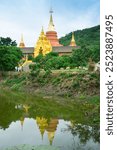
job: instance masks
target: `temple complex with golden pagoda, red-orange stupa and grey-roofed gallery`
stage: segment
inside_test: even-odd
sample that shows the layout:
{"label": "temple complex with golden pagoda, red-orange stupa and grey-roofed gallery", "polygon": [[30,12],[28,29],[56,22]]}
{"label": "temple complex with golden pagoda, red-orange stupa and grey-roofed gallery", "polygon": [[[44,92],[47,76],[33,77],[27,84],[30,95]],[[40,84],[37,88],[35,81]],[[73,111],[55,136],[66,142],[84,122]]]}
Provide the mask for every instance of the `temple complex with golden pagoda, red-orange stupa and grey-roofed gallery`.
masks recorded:
{"label": "temple complex with golden pagoda, red-orange stupa and grey-roofed gallery", "polygon": [[76,45],[74,33],[72,33],[71,43],[69,46],[63,46],[59,43],[57,32],[55,31],[55,26],[53,23],[53,10],[50,10],[50,21],[48,25],[48,30],[44,33],[44,29],[40,33],[40,36],[36,42],[35,47],[26,47],[23,35],[21,36],[21,41],[19,47],[21,48],[24,57],[28,56],[37,57],[39,54],[46,55],[49,52],[56,52],[61,55],[70,55],[73,49],[78,49],[79,46]]}

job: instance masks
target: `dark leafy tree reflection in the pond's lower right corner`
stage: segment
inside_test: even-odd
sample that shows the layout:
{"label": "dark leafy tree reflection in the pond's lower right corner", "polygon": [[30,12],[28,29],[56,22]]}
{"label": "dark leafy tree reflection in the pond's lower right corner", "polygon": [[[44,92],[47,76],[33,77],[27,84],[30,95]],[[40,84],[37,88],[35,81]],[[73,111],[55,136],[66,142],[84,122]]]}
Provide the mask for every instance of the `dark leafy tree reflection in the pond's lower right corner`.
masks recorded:
{"label": "dark leafy tree reflection in the pond's lower right corner", "polygon": [[93,127],[72,123],[68,126],[68,130],[71,131],[73,136],[79,136],[80,142],[86,144],[89,139],[93,139],[94,142],[100,141],[100,131],[99,126],[95,125]]}

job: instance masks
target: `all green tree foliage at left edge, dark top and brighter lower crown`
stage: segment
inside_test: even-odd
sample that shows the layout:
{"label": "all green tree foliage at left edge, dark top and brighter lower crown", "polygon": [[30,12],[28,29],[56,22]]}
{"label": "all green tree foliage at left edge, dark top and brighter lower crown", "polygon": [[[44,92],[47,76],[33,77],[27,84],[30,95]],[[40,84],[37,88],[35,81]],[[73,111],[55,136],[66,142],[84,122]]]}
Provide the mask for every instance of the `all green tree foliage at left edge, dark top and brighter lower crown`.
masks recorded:
{"label": "all green tree foliage at left edge, dark top and brighter lower crown", "polygon": [[11,71],[18,65],[22,52],[16,46],[16,41],[11,38],[0,37],[0,71]]}

